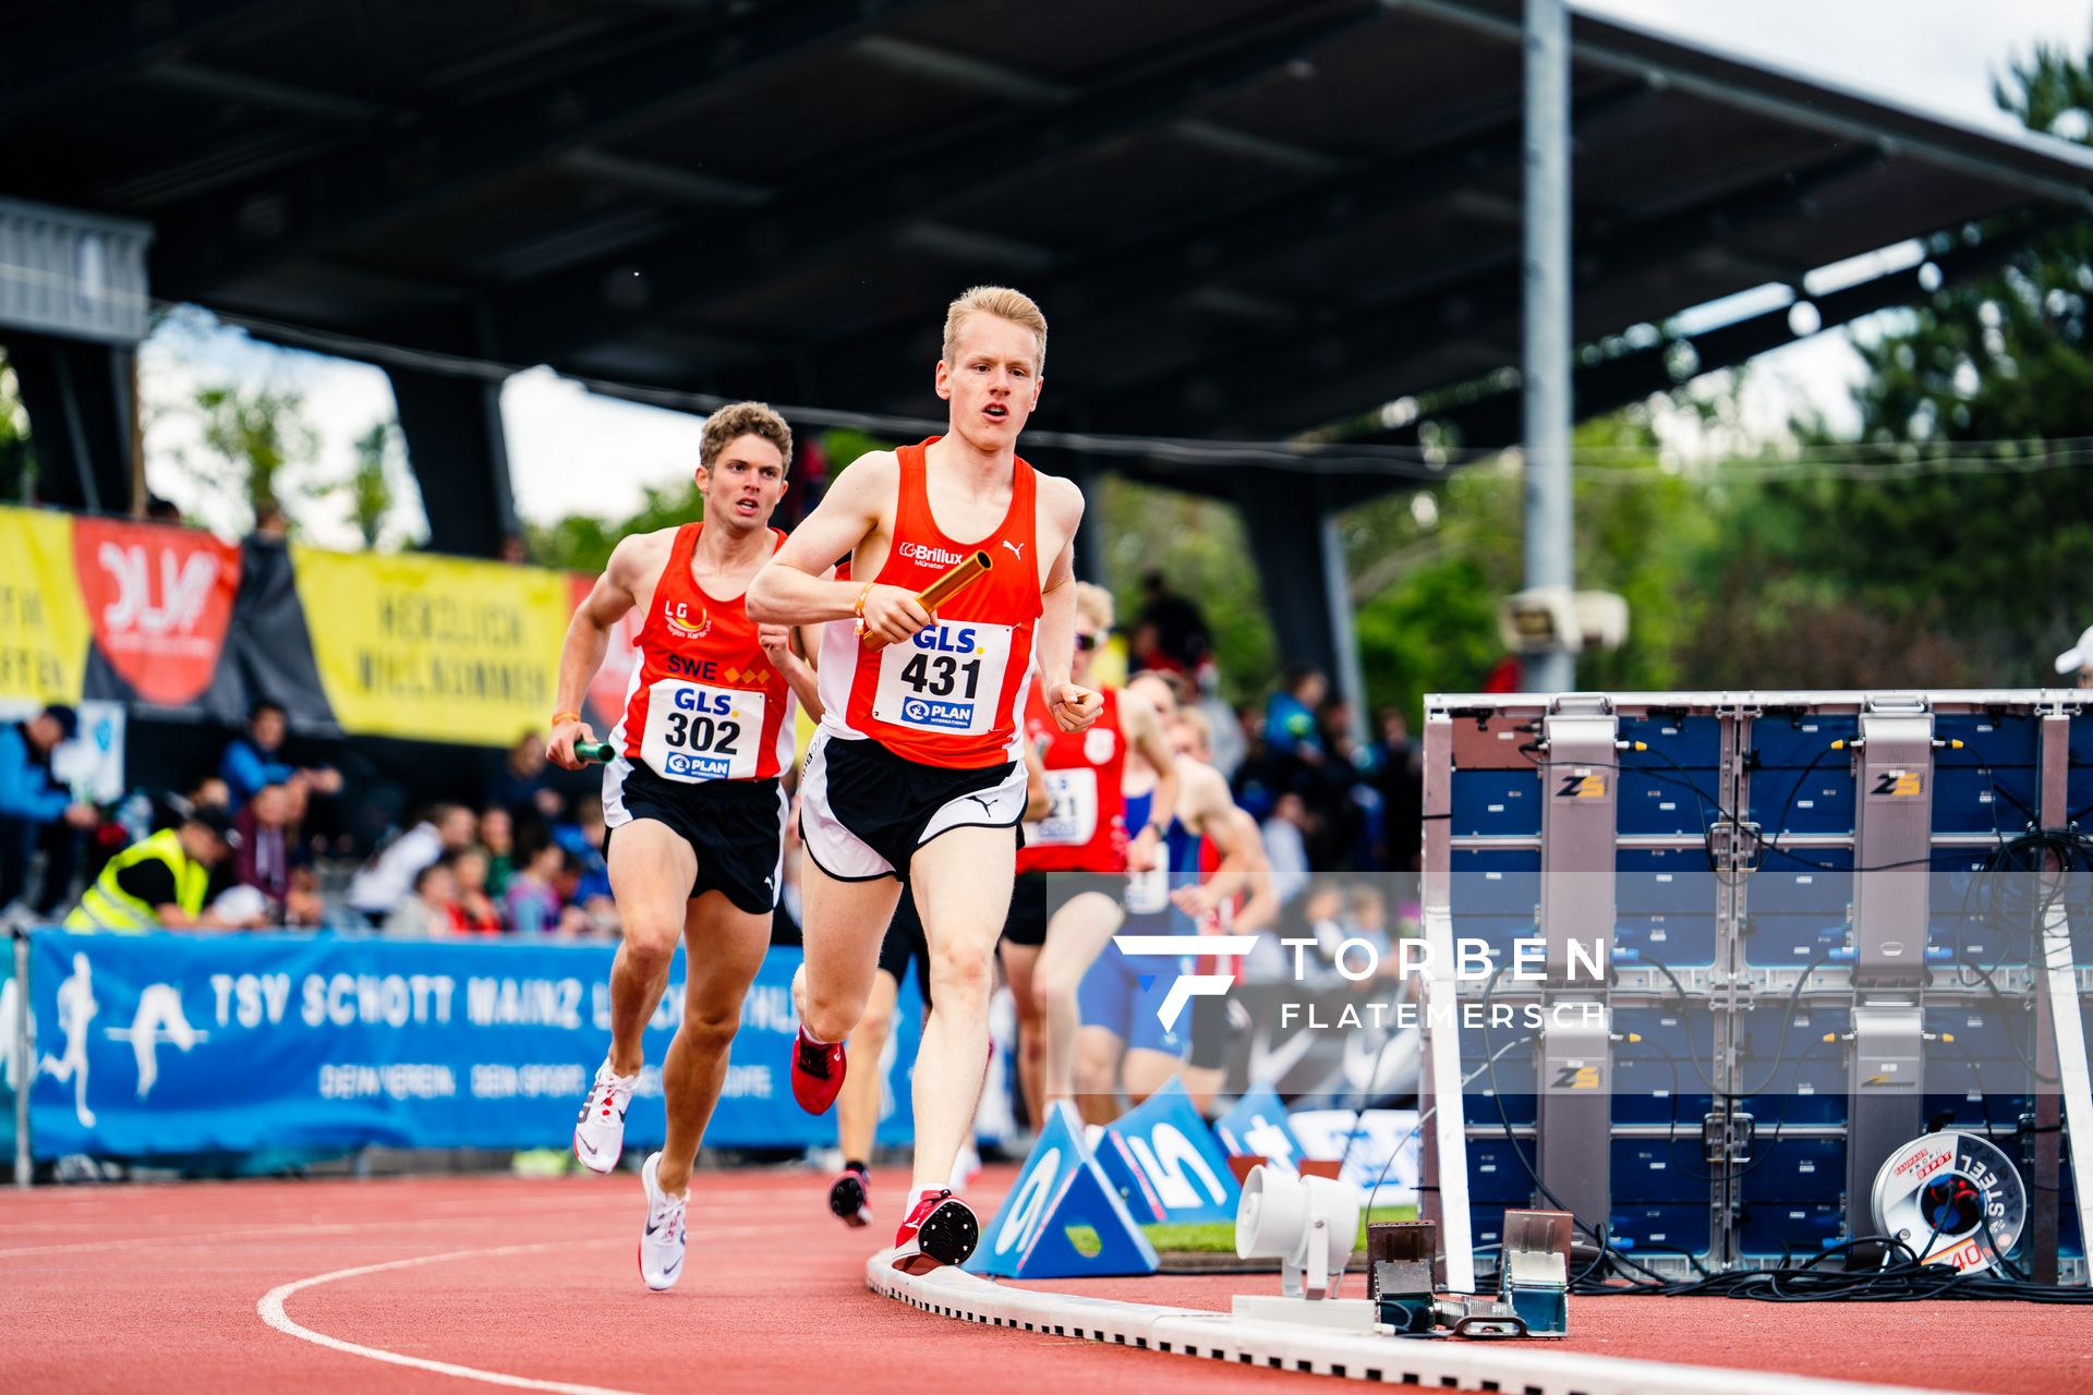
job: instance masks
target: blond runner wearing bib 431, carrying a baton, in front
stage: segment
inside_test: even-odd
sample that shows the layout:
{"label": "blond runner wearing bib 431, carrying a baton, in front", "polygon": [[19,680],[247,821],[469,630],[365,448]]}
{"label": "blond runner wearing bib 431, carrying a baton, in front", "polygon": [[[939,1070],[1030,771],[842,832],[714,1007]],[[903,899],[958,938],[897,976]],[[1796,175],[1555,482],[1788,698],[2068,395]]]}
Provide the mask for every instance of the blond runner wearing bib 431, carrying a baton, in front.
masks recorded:
{"label": "blond runner wearing bib 431, carrying a baton, in front", "polygon": [[[1070,678],[1082,491],[1017,458],[1038,406],[1046,318],[977,287],[944,322],[946,435],[860,456],[749,588],[749,613],[829,623],[825,717],[800,784],[806,979],[793,1094],[812,1113],[843,1083],[879,941],[908,881],[929,941],[931,998],[915,1067],[915,1182],[896,1267],[973,1253],[980,1224],[946,1190],[988,1060],[994,947],[1011,906],[1026,805],[1019,701],[1038,665],[1055,724],[1080,732],[1099,696]],[[986,550],[986,577],[929,615],[917,594]],[[825,579],[850,554],[852,579]],[[860,638],[862,634],[862,638]],[[867,644],[873,642],[873,646]]]}

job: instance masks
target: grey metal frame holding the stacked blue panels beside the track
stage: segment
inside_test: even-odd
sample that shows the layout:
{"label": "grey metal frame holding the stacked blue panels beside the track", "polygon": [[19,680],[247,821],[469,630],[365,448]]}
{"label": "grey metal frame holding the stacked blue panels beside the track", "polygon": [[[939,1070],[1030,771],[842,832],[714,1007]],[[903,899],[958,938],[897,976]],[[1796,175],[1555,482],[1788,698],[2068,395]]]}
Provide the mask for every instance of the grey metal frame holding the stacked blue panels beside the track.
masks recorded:
{"label": "grey metal frame holding the stacked blue panels beside the track", "polygon": [[[2041,722],[2039,747],[2039,814],[2043,828],[2057,828],[2068,816],[2066,784],[2070,776],[2068,736],[2074,715],[2093,713],[2093,694],[2080,690],[1953,690],[1953,692],[1624,692],[1624,694],[1436,694],[1425,699],[1423,728],[1423,924],[1434,941],[1434,964],[1450,964],[1453,956],[1453,855],[1480,849],[1538,849],[1543,885],[1534,910],[1536,933],[1549,943],[1549,983],[1501,991],[1505,1000],[1561,1000],[1572,993],[1597,996],[1612,1025],[1616,1006],[1660,1006],[1674,1002],[1683,989],[1691,1006],[1712,1016],[1712,1083],[1714,1113],[1704,1138],[1710,1144],[1710,1267],[1743,1267],[1739,1211],[1743,1205],[1743,1169],[1748,1167],[1750,1125],[1741,1117],[1746,1088],[1743,1037],[1746,1014],[1754,1006],[1779,1004],[1790,996],[1804,1004],[1850,1006],[1852,1031],[1846,1037],[1844,1075],[1848,1081],[1846,1123],[1785,1125],[1783,1138],[1844,1138],[1846,1192],[1844,1230],[1848,1236],[1873,1232],[1869,1196],[1882,1161],[1905,1140],[1917,1136],[1923,1123],[1923,1058],[1926,1004],[1976,1002],[1980,989],[1957,977],[1953,966],[1926,960],[1926,927],[1930,920],[1928,860],[1940,851],[1967,845],[1993,847],[1997,834],[1955,834],[1932,830],[1936,717],[2011,713]],[[1620,722],[1651,715],[1714,717],[1720,730],[1716,788],[1723,809],[1733,811],[1741,828],[1714,820],[1714,834],[1622,834],[1618,830],[1618,791],[1612,776],[1620,757],[1607,747],[1618,740]],[[1848,719],[1856,738],[1846,742],[1844,761],[1831,770],[1854,776],[1852,832],[1790,834],[1779,832],[1783,851],[1804,853],[1850,851],[1854,868],[1886,868],[1854,878],[1848,906],[1850,962],[1802,966],[1754,964],[1748,958],[1752,927],[1750,887],[1760,851],[1758,828],[1746,820],[1752,795],[1754,726],[1758,722],[1792,722],[1806,715]],[[1547,738],[1547,755],[1507,755],[1534,738]],[[1827,751],[1836,747],[1829,745]],[[1457,834],[1453,832],[1455,770],[1517,770],[1536,761],[1547,774],[1568,782],[1572,776],[1591,780],[1607,768],[1603,791],[1584,799],[1551,799],[1553,788],[1540,782],[1540,834]],[[1649,770],[1660,770],[1651,765]],[[1584,793],[1584,791],[1578,791]],[[1913,799],[1913,795],[1919,795]],[[1570,805],[1557,811],[1555,805]],[[1576,809],[1576,805],[1584,805]],[[1570,818],[1582,814],[1584,818]],[[1597,857],[1595,830],[1605,834],[1605,857]],[[1718,872],[1714,897],[1716,952],[1712,966],[1676,968],[1681,989],[1662,970],[1643,964],[1614,966],[1612,987],[1597,993],[1561,981],[1559,945],[1576,935],[1601,935],[1612,954],[1612,933],[1618,906],[1612,897],[1612,853],[1616,849],[1708,847]],[[1601,868],[1599,862],[1605,866]],[[1911,864],[1911,866],[1900,866]],[[1551,895],[1549,872],[1570,870],[1582,895]],[[1603,872],[1603,874],[1601,874]],[[1919,933],[1913,935],[1911,927]],[[2087,1044],[2076,1010],[2093,998],[2093,968],[2072,962],[2070,933],[2062,906],[2051,906],[2043,927],[2041,956],[2045,962],[2026,968],[1997,970],[2001,993],[2032,998],[2036,1010],[2036,1065],[2057,1077],[2055,1090],[2034,1088],[2036,1127],[2030,1182],[2030,1228],[2024,1244],[2032,1253],[2032,1276],[2039,1282],[2085,1282],[2087,1261],[2060,1265],[2057,1213],[2060,1134],[2062,1121],[2076,1138],[2089,1140],[2072,1159],[2072,1186],[2078,1198],[2080,1230],[2093,1217],[2093,1085],[2089,1085]],[[1810,981],[1800,985],[1798,979]],[[1444,1278],[1473,1276],[1467,1140],[1494,1138],[1499,1123],[1469,1125],[1465,1119],[1461,1079],[1461,1033],[1453,1004],[1482,993],[1480,983],[1427,981],[1427,1002],[1446,1004],[1442,1012],[1423,1012],[1425,1071],[1423,1108],[1434,1108],[1434,1127],[1425,1136],[1423,1215],[1440,1221],[1446,1238]],[[1534,1144],[1534,1167],[1543,1184],[1578,1215],[1610,1215],[1612,1192],[1607,1159],[1612,1140],[1635,1138],[1643,1125],[1614,1123],[1612,1092],[1597,1098],[1561,1088],[1574,1071],[1597,1073],[1612,1083],[1610,1033],[1555,1033],[1545,1029],[1536,1042],[1536,1127],[1515,1127],[1520,1140]],[[1551,1069],[1553,1067],[1553,1069]],[[1589,1075],[1586,1075],[1589,1077]],[[1662,1131],[1662,1129],[1660,1129]],[[1597,1165],[1593,1165],[1597,1161]],[[2045,1190],[2049,1188],[2049,1190]],[[1551,1205],[1536,1196],[1534,1205]],[[2087,1240],[2087,1236],[2080,1236]],[[1660,1272],[1685,1274],[1683,1257],[1639,1257]],[[1455,1284],[1459,1286],[1459,1284]]]}

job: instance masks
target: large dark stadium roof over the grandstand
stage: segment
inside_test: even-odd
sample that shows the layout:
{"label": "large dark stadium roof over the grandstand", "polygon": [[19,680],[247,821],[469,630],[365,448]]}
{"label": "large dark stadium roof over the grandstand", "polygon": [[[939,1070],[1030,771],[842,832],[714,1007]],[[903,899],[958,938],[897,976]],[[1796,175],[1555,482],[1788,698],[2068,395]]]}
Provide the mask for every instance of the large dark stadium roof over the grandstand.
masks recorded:
{"label": "large dark stadium roof over the grandstand", "polygon": [[[1268,439],[1517,362],[1517,19],[1515,0],[27,0],[0,50],[0,195],[149,220],[155,295],[287,341],[862,412],[933,414],[946,299],[1007,280],[1053,320],[1040,427]],[[2089,205],[2093,151],[1589,15],[1572,42],[1582,341]],[[1936,247],[1949,274],[1955,255]],[[1909,303],[1915,276],[1823,318]],[[1787,337],[1783,310],[1697,362]],[[1668,385],[1653,339],[1586,364],[1580,408]],[[1471,431],[1515,435],[1507,404]]]}

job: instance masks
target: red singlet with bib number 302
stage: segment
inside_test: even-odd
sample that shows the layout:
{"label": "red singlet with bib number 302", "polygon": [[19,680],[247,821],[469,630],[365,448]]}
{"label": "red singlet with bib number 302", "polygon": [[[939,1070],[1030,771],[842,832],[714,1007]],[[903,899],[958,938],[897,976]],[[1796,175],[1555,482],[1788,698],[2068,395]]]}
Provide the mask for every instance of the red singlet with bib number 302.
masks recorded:
{"label": "red singlet with bib number 302", "polygon": [[[718,600],[691,577],[703,527],[676,529],[611,745],[682,784],[774,780],[791,763],[791,688],[756,638],[747,596]],[[777,552],[785,533],[770,535]]]}

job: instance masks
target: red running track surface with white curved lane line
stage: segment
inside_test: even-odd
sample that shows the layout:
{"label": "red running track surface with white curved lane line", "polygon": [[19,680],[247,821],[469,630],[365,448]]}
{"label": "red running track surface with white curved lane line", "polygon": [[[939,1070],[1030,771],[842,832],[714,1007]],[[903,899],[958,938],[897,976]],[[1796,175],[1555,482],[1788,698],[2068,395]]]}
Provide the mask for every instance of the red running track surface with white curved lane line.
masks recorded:
{"label": "red running track surface with white curved lane line", "polygon": [[[996,1169],[980,1200],[1011,1182]],[[902,1186],[879,1173],[890,1217]],[[881,1205],[883,1203],[883,1205]],[[230,1182],[0,1194],[0,1385],[19,1391],[523,1389],[906,1391],[1011,1380],[1084,1395],[1335,1391],[1327,1376],[959,1324],[873,1297],[864,1255],[808,1173],[703,1173],[682,1284],[638,1284],[630,1173],[521,1182]],[[343,1270],[283,1301],[264,1295]],[[1354,1280],[1356,1282],[1356,1280]],[[1143,1303],[1226,1307],[1268,1278],[1057,1282]],[[1723,1299],[1580,1299],[1578,1351],[1936,1389],[2093,1391],[2093,1311],[2022,1305],[1773,1307]]]}

